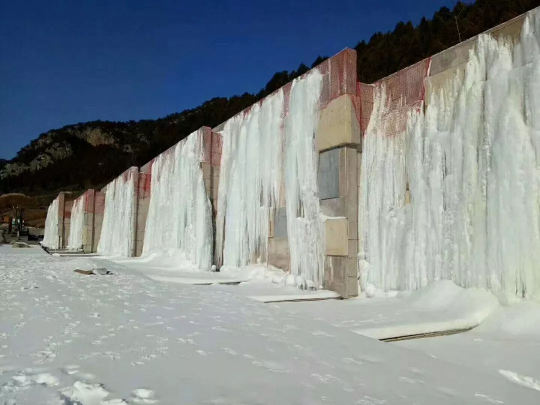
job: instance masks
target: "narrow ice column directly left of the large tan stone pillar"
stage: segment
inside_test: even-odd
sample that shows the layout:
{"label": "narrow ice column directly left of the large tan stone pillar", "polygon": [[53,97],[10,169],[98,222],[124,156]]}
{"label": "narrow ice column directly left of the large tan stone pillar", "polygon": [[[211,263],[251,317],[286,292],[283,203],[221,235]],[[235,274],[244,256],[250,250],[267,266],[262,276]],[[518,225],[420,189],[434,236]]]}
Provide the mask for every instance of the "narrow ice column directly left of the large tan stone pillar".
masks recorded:
{"label": "narrow ice column directly left of the large tan stone pillar", "polygon": [[325,271],[324,225],[317,184],[315,131],[319,119],[321,75],[294,80],[286,118],[285,196],[291,273],[322,287]]}

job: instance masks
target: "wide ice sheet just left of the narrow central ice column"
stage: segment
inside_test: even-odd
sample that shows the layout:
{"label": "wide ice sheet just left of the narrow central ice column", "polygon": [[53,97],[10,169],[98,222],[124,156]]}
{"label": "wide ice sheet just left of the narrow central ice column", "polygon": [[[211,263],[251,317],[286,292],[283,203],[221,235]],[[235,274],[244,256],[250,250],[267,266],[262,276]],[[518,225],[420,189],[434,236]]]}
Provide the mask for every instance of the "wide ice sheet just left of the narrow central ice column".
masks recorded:
{"label": "wide ice sheet just left of the narrow central ice column", "polygon": [[266,260],[269,210],[281,184],[283,115],[280,89],[225,124],[216,221],[224,265]]}

